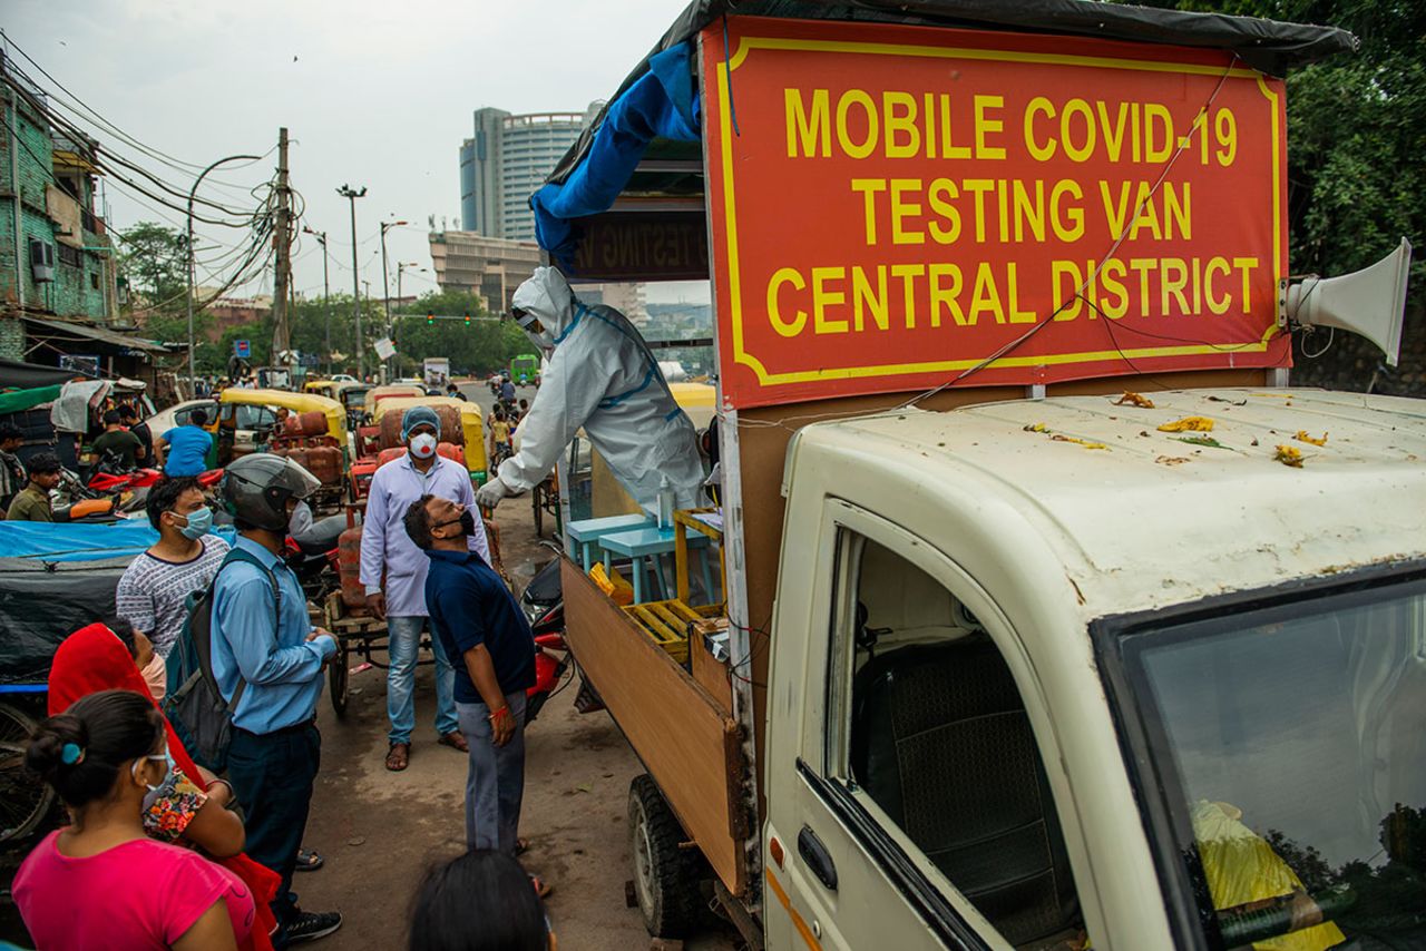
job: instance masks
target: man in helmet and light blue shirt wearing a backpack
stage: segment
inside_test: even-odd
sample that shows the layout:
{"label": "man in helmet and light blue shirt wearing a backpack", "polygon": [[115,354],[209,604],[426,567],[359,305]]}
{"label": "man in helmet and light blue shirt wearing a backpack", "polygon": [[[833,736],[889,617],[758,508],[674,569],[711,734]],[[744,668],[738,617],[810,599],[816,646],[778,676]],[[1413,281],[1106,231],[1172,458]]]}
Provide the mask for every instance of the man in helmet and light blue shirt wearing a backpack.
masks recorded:
{"label": "man in helmet and light blue shirt wearing a backpack", "polygon": [[228,555],[218,567],[212,674],[228,703],[242,692],[232,711],[228,780],[247,814],[248,855],[282,877],[272,900],[277,948],[342,924],[338,913],[298,910],[291,891],[322,749],[317,700],[337,640],[312,627],[302,586],[278,552],[292,509],[319,486],[302,466],[265,452],[230,465],[220,486],[238,528],[234,553],[258,565]]}

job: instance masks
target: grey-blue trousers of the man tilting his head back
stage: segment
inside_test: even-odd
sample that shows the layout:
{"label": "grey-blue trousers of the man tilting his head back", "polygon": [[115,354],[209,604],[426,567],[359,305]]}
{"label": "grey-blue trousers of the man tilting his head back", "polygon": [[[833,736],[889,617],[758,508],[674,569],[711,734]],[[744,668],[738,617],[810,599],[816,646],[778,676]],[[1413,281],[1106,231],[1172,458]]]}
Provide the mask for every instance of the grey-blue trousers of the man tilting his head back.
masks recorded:
{"label": "grey-blue trousers of the man tilting his head back", "polygon": [[525,692],[505,694],[515,716],[515,734],[505,746],[491,743],[491,709],[483,703],[458,703],[461,733],[471,744],[465,778],[466,848],[498,848],[515,854],[525,800]]}

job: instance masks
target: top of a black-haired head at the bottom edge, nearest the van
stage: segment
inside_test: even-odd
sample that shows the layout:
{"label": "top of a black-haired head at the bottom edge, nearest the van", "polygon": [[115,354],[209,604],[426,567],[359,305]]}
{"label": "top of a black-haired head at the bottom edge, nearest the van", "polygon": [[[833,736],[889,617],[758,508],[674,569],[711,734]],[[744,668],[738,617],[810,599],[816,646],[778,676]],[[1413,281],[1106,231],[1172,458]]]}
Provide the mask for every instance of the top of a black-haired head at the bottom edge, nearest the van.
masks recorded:
{"label": "top of a black-haired head at the bottom edge, nearest the van", "polygon": [[520,864],[491,848],[426,873],[411,908],[411,951],[545,951],[545,907]]}

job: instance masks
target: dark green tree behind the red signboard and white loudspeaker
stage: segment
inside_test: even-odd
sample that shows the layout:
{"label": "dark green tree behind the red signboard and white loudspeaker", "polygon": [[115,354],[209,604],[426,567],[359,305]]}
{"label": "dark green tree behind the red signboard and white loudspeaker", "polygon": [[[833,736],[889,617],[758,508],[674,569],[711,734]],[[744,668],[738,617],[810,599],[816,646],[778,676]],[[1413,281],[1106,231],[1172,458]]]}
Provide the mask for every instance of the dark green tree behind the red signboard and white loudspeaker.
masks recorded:
{"label": "dark green tree behind the red signboard and white loudspeaker", "polygon": [[[1380,259],[1402,235],[1426,232],[1426,4],[1419,0],[1135,0],[1292,23],[1325,23],[1362,40],[1288,76],[1288,214],[1293,272],[1348,274]],[[1402,366],[1385,392],[1426,394],[1426,255],[1410,271]],[[1299,341],[1301,342],[1301,341]],[[1322,339],[1308,341],[1316,349]],[[1380,352],[1338,334],[1330,359],[1303,359],[1293,379],[1365,386]]]}

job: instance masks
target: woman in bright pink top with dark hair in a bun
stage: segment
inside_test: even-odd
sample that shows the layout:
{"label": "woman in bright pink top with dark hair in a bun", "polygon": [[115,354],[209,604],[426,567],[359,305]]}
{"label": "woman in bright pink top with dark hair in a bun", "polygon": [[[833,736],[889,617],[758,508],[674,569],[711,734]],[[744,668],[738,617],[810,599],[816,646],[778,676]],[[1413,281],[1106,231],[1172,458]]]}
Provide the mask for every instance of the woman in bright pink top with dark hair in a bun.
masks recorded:
{"label": "woman in bright pink top with dark hair in a bun", "polygon": [[242,880],[144,834],[144,796],[173,768],[148,697],[104,690],[40,724],[26,763],[70,807],[11,893],[39,951],[237,948],[255,914]]}

